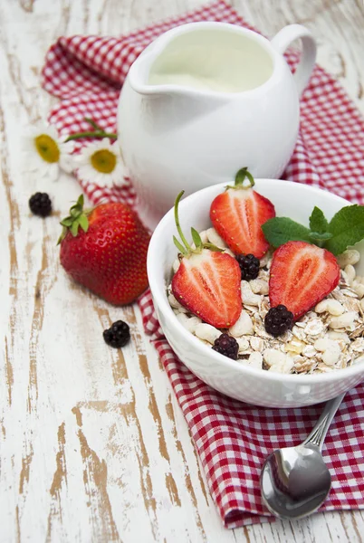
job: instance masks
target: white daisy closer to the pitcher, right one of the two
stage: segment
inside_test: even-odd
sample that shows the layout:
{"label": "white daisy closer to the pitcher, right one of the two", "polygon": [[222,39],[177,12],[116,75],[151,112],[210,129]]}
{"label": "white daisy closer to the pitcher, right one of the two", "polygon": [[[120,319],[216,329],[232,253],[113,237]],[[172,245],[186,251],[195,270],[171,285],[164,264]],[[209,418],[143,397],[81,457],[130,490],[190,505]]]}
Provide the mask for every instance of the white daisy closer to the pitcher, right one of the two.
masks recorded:
{"label": "white daisy closer to the pitcher, right one of the two", "polygon": [[87,144],[75,160],[81,179],[97,186],[125,185],[119,145],[111,145],[109,138]]}

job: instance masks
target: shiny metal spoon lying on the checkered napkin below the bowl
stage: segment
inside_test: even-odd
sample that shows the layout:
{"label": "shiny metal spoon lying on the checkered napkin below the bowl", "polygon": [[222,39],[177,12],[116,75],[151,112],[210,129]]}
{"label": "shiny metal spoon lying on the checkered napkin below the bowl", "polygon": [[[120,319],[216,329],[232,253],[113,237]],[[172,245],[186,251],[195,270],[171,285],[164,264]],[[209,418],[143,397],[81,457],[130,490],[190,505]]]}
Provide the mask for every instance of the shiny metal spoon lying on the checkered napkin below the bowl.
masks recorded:
{"label": "shiny metal spoon lying on the checkered napkin below the bowl", "polygon": [[264,462],[261,473],[263,502],[276,517],[306,517],[326,500],[331,477],[321,449],[344,395],[326,403],[321,417],[301,445],[277,449]]}

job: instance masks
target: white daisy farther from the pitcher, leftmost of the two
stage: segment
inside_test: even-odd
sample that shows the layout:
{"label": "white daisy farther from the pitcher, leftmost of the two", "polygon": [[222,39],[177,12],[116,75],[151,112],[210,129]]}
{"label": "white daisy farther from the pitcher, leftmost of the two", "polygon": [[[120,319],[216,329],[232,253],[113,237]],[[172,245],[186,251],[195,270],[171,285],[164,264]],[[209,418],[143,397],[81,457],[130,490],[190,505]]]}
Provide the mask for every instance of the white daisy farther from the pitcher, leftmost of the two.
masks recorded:
{"label": "white daisy farther from the pitcher, leftmost of the two", "polygon": [[46,176],[51,181],[59,176],[60,168],[71,173],[74,142],[62,141],[52,125],[38,124],[23,138],[24,164],[27,171]]}

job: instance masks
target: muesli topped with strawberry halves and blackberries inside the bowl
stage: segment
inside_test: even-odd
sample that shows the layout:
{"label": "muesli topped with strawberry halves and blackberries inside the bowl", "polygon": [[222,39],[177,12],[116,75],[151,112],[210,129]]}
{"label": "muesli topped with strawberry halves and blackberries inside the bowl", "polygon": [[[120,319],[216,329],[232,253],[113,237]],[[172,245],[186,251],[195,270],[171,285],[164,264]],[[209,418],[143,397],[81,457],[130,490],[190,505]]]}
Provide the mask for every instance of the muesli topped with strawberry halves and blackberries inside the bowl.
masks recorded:
{"label": "muesli topped with strawberry halves and blackberries inside the bowl", "polygon": [[[337,224],[331,224],[333,219],[331,226],[325,223],[318,208],[312,212],[313,218],[311,215],[311,230],[301,230],[298,235],[290,219],[274,218],[272,203],[267,219],[266,199],[253,191],[253,184],[244,187],[242,195],[237,193],[244,203],[238,221],[245,228],[248,223],[254,224],[249,233],[244,232],[243,240],[239,240],[239,225],[235,224],[236,193],[231,202],[229,189],[227,196],[223,193],[224,201],[220,199],[216,205],[215,200],[211,206],[210,217],[213,224],[215,219],[219,233],[216,227],[200,233],[192,229],[194,243],[187,243],[183,234],[182,244],[175,240],[179,254],[173,264],[168,300],[177,319],[207,346],[238,363],[263,370],[319,374],[364,362],[364,278],[357,276],[354,268],[359,252],[349,249],[333,256],[342,247],[340,236],[339,242],[335,241]],[[230,206],[227,211],[226,205]],[[350,208],[350,213],[356,213],[355,220],[358,209],[360,214],[364,211],[358,205],[344,208],[346,224]],[[220,221],[227,217],[229,233],[216,223],[214,209]],[[234,243],[229,243],[232,231]],[[278,234],[282,243],[276,243]],[[359,241],[359,235],[353,234],[350,245]],[[316,244],[312,244],[314,241]],[[242,247],[244,243],[246,247]],[[325,244],[332,252],[324,248]],[[293,271],[286,271],[287,262]],[[306,284],[310,288],[305,291]]]}

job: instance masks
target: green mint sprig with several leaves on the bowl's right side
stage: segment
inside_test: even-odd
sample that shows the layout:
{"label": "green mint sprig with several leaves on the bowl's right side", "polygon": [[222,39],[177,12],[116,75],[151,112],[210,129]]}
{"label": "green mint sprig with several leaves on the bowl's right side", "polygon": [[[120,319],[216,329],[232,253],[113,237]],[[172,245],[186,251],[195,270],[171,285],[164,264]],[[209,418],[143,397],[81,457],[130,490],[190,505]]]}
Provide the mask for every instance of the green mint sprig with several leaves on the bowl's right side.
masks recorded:
{"label": "green mint sprig with several leaves on the bowl's right side", "polygon": [[364,238],[364,205],[347,205],[330,222],[319,207],[314,207],[310,228],[288,217],[274,217],[263,224],[267,242],[277,248],[291,241],[308,242],[323,247],[335,256]]}

